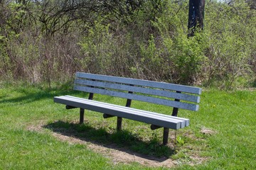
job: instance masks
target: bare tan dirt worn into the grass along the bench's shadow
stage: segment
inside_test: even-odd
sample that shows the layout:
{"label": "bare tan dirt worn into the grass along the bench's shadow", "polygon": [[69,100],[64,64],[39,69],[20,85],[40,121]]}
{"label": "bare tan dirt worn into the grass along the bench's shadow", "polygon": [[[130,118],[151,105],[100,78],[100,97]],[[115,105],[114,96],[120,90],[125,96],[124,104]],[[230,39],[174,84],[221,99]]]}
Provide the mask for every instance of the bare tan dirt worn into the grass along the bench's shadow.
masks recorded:
{"label": "bare tan dirt worn into the grass along the bench's shadow", "polygon": [[[30,126],[28,127],[28,130],[36,131],[36,132],[46,132],[45,128],[43,128],[43,124],[36,125],[36,126]],[[54,137],[56,137],[58,140],[68,142],[70,144],[80,144],[80,145],[86,145],[88,149],[91,149],[93,152],[97,152],[99,154],[102,154],[104,157],[109,158],[112,160],[113,164],[131,164],[132,162],[137,162],[139,164],[142,164],[144,166],[150,166],[150,167],[167,167],[171,168],[174,166],[177,166],[178,164],[181,164],[180,162],[167,158],[167,157],[151,157],[149,155],[139,154],[137,152],[132,152],[131,150],[119,148],[117,145],[100,145],[95,142],[90,142],[89,140],[82,138],[82,137],[76,137],[75,135],[70,135],[70,132],[67,132],[65,135],[64,130],[61,130],[61,132],[50,132]],[[188,163],[191,166],[195,164],[201,164],[206,159],[198,157],[196,155],[191,155],[192,162]]]}

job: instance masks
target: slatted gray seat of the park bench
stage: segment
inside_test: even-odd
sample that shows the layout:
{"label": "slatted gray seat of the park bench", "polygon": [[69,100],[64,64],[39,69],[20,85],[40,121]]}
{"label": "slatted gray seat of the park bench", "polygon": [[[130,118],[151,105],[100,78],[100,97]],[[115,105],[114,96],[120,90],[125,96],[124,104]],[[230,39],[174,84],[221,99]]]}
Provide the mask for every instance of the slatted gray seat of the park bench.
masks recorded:
{"label": "slatted gray seat of the park bench", "polygon": [[174,118],[167,118],[166,116],[151,115],[144,113],[143,111],[130,110],[129,108],[122,106],[113,106],[107,103],[94,102],[87,99],[70,98],[68,96],[54,97],[56,103],[63,103],[69,106],[75,106],[78,108],[85,108],[91,111],[97,111],[100,113],[106,113],[115,115],[122,118],[128,118],[131,120],[138,120],[144,123],[153,125],[159,125],[165,128],[179,129],[185,127],[186,123],[183,120]]}

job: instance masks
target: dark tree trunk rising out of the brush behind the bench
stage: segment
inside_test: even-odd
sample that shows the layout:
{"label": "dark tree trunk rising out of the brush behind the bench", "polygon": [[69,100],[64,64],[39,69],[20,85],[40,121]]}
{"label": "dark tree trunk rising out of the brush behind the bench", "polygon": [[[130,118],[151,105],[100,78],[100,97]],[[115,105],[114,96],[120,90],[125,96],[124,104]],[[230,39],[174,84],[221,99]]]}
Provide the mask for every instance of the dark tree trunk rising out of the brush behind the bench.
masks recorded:
{"label": "dark tree trunk rising out of the brush behind the bench", "polygon": [[197,28],[203,30],[205,3],[206,0],[189,0],[188,37],[193,36]]}

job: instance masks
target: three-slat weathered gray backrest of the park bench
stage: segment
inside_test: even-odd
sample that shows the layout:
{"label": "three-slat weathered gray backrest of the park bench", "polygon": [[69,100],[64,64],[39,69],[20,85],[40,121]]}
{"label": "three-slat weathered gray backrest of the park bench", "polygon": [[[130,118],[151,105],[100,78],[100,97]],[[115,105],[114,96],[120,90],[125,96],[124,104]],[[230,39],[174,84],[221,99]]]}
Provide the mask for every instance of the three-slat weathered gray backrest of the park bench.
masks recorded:
{"label": "three-slat weathered gray backrest of the park bench", "polygon": [[201,88],[77,72],[75,90],[198,111]]}

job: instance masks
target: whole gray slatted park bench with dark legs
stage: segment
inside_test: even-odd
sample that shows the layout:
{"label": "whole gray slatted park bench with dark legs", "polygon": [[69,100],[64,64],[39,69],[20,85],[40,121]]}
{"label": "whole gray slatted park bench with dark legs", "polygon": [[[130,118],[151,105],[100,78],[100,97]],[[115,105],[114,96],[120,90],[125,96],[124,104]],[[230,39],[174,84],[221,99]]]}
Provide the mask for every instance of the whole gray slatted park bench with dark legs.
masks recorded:
{"label": "whole gray slatted park bench with dark legs", "polygon": [[[189,125],[188,119],[177,117],[178,108],[198,111],[201,94],[201,88],[192,86],[81,72],[76,73],[74,89],[90,93],[89,98],[55,96],[53,100],[65,104],[67,109],[80,108],[80,123],[84,121],[85,109],[103,113],[104,118],[116,116],[117,130],[122,128],[122,118],[137,120],[150,124],[151,130],[164,128],[164,145],[168,143],[169,129],[178,130]],[[94,94],[127,98],[127,103],[118,106],[93,101]],[[132,100],[171,106],[172,115],[130,108]]]}

